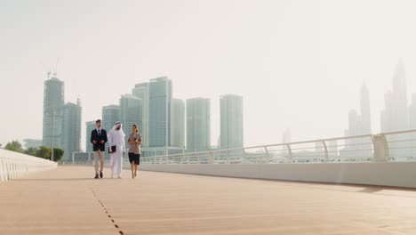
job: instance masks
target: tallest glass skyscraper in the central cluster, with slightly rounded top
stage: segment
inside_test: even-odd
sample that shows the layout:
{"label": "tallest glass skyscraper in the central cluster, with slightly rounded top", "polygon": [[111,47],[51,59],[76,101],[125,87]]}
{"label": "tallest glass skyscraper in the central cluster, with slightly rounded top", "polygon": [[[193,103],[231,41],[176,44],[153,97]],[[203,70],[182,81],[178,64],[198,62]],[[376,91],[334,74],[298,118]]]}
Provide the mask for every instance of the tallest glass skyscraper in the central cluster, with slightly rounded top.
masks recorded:
{"label": "tallest glass skyscraper in the central cluster, with slightly rounded top", "polygon": [[168,147],[172,131],[172,80],[168,77],[151,79],[148,97],[148,145]]}

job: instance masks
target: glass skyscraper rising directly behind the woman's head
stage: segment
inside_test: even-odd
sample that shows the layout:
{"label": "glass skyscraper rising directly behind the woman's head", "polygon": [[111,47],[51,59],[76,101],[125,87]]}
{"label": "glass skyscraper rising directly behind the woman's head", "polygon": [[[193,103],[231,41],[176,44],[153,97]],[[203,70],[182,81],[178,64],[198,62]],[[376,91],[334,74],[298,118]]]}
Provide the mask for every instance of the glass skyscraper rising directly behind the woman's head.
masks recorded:
{"label": "glass skyscraper rising directly behind the woman's head", "polygon": [[125,140],[127,142],[130,133],[132,133],[132,125],[139,126],[141,130],[142,101],[139,97],[132,94],[124,94],[120,98],[121,122],[124,126]]}

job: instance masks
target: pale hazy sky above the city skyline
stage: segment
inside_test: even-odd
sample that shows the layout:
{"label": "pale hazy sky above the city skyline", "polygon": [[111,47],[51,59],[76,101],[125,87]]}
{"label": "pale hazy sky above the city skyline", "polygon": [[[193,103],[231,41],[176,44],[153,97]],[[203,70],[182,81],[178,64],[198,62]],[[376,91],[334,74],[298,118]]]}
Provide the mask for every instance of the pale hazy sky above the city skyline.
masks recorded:
{"label": "pale hazy sky above the city skyline", "polygon": [[286,128],[293,141],[342,136],[364,81],[379,132],[399,58],[416,92],[414,12],[412,0],[0,0],[0,142],[42,138],[57,58],[83,126],[168,76],[175,98],[212,99],[212,143],[225,93],[244,96],[245,145],[281,142]]}

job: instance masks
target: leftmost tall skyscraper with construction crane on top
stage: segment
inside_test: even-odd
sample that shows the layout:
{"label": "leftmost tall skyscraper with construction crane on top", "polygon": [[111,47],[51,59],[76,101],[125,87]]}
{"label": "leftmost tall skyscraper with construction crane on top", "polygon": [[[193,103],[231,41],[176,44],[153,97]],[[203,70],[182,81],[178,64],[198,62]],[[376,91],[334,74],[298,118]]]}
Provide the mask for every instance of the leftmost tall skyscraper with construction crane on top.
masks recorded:
{"label": "leftmost tall skyscraper with construction crane on top", "polygon": [[[62,122],[64,108],[64,82],[57,77],[44,81],[43,144],[62,147]],[[53,136],[53,140],[52,140]]]}

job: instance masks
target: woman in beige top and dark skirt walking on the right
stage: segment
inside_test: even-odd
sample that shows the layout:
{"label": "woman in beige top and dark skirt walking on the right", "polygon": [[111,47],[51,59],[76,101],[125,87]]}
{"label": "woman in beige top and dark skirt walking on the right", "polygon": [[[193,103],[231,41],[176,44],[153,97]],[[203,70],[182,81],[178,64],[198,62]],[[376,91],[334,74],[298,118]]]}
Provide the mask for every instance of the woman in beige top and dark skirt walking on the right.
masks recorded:
{"label": "woman in beige top and dark skirt walking on the right", "polygon": [[137,166],[140,165],[140,144],[141,135],[139,134],[139,127],[132,126],[132,134],[129,135],[129,161],[132,165],[132,178],[137,177]]}

